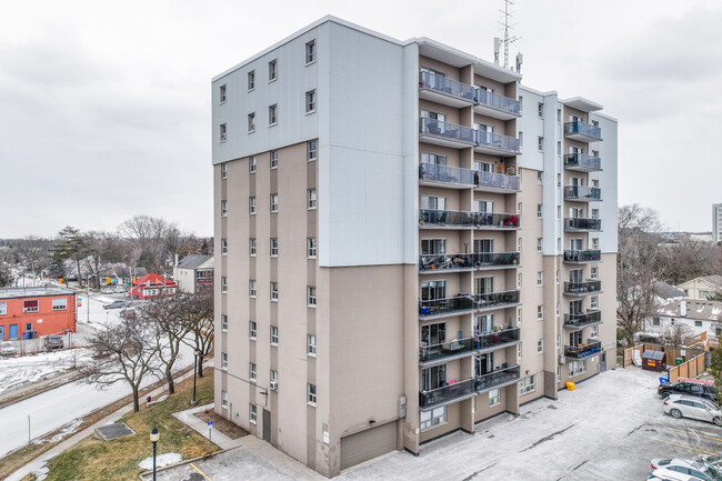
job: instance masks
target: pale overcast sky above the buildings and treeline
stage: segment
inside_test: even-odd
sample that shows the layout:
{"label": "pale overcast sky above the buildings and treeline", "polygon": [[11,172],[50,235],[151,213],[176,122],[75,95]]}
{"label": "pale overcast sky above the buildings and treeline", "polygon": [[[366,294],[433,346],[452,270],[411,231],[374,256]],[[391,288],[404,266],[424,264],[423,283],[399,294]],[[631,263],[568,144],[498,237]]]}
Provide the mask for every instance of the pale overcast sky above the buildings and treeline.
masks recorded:
{"label": "pale overcast sky above the buildings and treeline", "polygon": [[[492,60],[502,0],[0,0],[0,238],[134,214],[212,234],[210,79],[333,14]],[[523,83],[619,119],[619,203],[709,231],[722,2],[517,0]],[[515,51],[512,51],[515,54]]]}

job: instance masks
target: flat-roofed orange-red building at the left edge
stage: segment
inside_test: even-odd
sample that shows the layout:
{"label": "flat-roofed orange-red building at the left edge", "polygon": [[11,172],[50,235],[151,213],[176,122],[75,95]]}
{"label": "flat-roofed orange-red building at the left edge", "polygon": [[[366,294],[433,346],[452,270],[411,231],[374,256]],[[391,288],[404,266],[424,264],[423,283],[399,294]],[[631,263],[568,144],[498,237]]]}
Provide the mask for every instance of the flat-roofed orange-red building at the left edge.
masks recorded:
{"label": "flat-roofed orange-red building at the left edge", "polygon": [[76,292],[59,287],[0,289],[0,340],[76,332]]}

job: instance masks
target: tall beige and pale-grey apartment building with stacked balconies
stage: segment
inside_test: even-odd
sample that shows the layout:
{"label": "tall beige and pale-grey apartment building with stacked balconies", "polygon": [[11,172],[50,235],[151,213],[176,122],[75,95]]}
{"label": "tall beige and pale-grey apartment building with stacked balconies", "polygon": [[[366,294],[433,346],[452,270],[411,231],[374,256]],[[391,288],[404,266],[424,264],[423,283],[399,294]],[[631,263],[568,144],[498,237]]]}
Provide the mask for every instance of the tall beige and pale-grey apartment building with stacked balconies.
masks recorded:
{"label": "tall beige and pale-grey apartment building with stacked balconies", "polygon": [[333,477],[614,362],[602,106],[333,17],[212,103],[219,414]]}

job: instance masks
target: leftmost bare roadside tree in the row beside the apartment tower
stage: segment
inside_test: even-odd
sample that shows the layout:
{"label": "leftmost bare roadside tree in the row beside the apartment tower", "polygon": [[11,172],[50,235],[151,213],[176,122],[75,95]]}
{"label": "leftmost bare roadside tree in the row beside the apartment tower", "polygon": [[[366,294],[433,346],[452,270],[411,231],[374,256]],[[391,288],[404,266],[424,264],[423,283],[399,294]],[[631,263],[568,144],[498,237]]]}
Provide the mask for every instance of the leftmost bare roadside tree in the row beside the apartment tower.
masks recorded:
{"label": "leftmost bare roadside tree in the row beside the apartment tower", "polygon": [[143,380],[158,373],[159,348],[150,327],[137,317],[123,317],[112,327],[101,327],[89,340],[97,360],[81,369],[86,382],[108,387],[127,382],[133,391],[133,410],[140,410]]}

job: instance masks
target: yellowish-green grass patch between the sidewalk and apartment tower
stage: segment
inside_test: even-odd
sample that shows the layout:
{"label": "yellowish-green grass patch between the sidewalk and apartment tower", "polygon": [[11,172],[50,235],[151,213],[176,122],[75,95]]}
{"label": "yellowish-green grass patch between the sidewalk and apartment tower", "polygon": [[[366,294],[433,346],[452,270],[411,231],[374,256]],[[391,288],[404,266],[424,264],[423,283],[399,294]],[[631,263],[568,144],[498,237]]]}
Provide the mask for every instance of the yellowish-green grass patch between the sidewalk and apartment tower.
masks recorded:
{"label": "yellowish-green grass patch between the sidewalk and apartment tower", "polygon": [[[193,379],[176,384],[176,394],[150,409],[141,407],[139,412],[126,415],[122,421],[134,435],[113,441],[100,441],[93,437],[86,438],[78,445],[48,463],[49,481],[62,480],[138,480],[143,470],[138,463],[153,455],[149,439],[153,427],[158,428],[160,441],[158,454],[177,452],[183,459],[191,459],[208,452],[208,440],[178,421],[171,414],[190,409]],[[197,399],[199,405],[213,401],[213,369],[203,371],[198,379]],[[219,448],[213,445],[213,451]]]}

